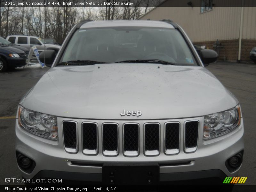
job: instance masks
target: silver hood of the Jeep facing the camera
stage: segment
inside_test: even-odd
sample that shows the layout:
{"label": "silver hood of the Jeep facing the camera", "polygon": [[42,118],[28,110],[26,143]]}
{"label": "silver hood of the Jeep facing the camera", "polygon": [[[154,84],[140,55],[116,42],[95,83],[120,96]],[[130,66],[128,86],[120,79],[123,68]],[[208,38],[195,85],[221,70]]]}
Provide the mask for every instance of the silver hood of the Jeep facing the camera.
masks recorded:
{"label": "silver hood of the Jeep facing the camera", "polygon": [[[204,116],[237,104],[206,68],[147,63],[54,67],[21,101],[56,116],[137,120]],[[124,109],[142,114],[121,116]]]}

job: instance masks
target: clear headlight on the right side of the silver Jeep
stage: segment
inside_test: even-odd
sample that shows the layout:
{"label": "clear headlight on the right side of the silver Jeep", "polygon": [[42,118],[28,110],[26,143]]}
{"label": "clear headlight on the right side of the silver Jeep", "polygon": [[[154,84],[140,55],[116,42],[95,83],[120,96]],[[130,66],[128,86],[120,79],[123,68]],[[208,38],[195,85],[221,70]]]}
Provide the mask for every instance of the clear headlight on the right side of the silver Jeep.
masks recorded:
{"label": "clear headlight on the right side of the silver Jeep", "polygon": [[241,110],[234,108],[204,116],[204,140],[218,137],[235,129],[241,122]]}

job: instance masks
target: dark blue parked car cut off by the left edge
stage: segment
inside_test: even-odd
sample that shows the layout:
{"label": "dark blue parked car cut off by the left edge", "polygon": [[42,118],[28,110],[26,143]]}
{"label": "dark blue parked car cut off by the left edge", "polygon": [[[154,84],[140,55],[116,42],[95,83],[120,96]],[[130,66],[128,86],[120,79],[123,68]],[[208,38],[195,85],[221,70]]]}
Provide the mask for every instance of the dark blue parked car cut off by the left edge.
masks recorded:
{"label": "dark blue parked car cut off by the left edge", "polygon": [[8,68],[26,65],[27,57],[28,54],[21,49],[0,44],[0,72],[5,72]]}

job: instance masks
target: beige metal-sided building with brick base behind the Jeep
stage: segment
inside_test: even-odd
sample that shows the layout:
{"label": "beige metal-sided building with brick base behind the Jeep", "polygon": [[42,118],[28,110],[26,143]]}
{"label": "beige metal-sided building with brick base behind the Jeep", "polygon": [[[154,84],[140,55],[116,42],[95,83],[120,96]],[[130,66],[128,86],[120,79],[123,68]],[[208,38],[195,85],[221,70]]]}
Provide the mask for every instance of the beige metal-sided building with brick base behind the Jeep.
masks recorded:
{"label": "beige metal-sided building with brick base behind the Jeep", "polygon": [[[216,49],[218,40],[220,44],[216,51],[219,52],[219,60],[251,61],[249,53],[256,46],[256,1],[239,0],[237,4],[233,2],[234,7],[220,7],[218,4],[221,1],[188,0],[177,3],[176,0],[166,0],[140,19],[173,20],[185,30],[194,44]],[[225,2],[231,5],[228,2],[232,0]],[[239,3],[246,7],[241,7]]]}

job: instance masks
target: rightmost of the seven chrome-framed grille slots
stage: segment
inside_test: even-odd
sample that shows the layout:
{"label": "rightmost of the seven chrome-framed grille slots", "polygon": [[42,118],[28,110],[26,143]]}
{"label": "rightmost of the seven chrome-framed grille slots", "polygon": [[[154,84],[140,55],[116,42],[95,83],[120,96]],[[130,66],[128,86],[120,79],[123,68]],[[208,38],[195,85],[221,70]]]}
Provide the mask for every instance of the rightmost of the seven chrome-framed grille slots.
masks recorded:
{"label": "rightmost of the seven chrome-framed grille slots", "polygon": [[198,140],[199,121],[186,121],[185,122],[185,145],[184,150],[187,153],[196,151]]}

